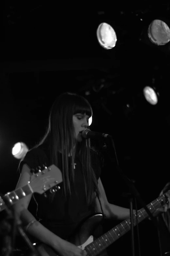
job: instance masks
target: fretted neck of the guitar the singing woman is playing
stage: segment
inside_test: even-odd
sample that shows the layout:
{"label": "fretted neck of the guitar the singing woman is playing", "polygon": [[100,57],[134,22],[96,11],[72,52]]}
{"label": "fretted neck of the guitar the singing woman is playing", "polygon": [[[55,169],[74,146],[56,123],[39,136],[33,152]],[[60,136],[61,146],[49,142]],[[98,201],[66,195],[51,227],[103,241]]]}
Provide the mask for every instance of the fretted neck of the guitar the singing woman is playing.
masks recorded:
{"label": "fretted neck of the guitar the singing woman is playing", "polygon": [[[170,194],[170,190],[168,190],[167,193]],[[165,201],[165,196],[162,195],[161,197],[149,203],[147,205],[147,208],[151,213],[153,213],[156,209],[160,208],[162,206],[162,202],[165,203]],[[141,222],[147,217],[148,214],[144,208],[138,210],[137,217],[136,214],[133,214],[133,226],[136,226],[137,223]],[[112,243],[114,243],[121,236],[123,236],[125,233],[127,233],[130,229],[131,220],[130,218],[128,218],[121,222],[120,224],[118,224],[117,226],[115,226],[113,229],[109,230],[108,232],[94,240],[89,245],[87,245],[85,247],[85,250],[87,251],[89,256],[96,256],[104,249],[106,249],[108,246],[110,246]]]}

